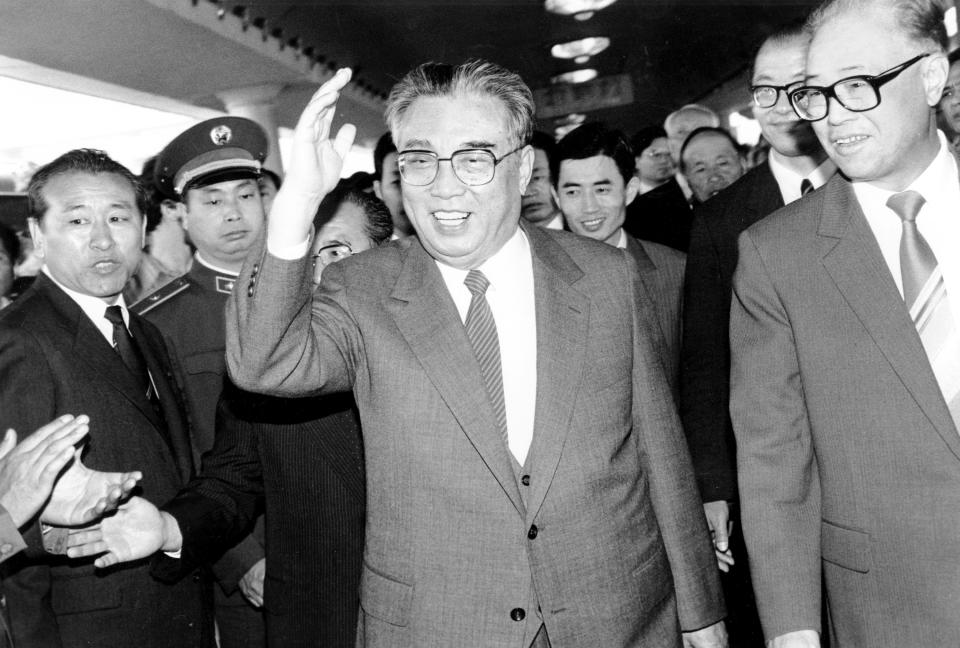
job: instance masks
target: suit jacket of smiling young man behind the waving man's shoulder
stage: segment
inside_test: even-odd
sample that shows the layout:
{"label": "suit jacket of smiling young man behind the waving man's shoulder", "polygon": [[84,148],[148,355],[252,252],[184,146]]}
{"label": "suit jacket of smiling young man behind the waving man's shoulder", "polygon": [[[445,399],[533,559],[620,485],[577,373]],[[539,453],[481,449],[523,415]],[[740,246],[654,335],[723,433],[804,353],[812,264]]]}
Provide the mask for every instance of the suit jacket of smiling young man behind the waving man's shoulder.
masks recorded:
{"label": "suit jacket of smiling young man behind the waving man's shoulder", "polygon": [[683,315],[683,273],[686,255],[627,235],[627,253],[640,271],[640,280],[653,301],[656,323],[666,344],[667,376],[677,395],[680,374],[680,320]]}

